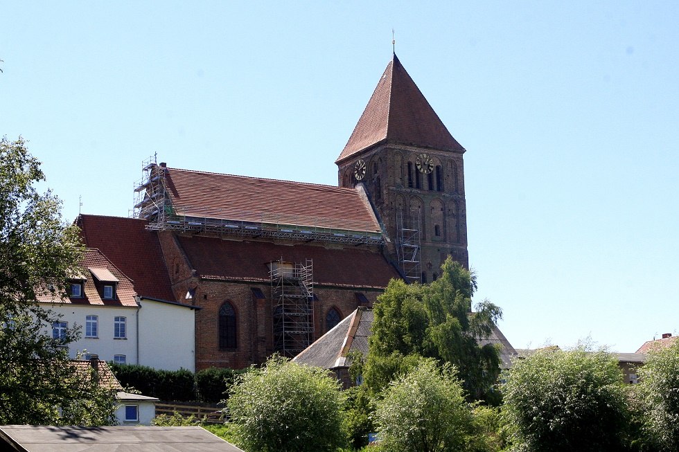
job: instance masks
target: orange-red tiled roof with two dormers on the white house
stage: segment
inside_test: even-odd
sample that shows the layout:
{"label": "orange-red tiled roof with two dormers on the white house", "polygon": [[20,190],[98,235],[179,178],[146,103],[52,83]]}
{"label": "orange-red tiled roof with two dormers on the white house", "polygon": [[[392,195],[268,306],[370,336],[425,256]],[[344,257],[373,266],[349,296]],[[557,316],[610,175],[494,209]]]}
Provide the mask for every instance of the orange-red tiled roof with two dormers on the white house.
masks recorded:
{"label": "orange-red tiled roof with two dormers on the white house", "polygon": [[[85,256],[80,265],[85,269],[81,275],[76,279],[85,278],[82,284],[82,295],[80,297],[67,297],[64,300],[59,300],[53,296],[46,294],[37,297],[39,302],[53,302],[53,303],[72,303],[73,305],[103,305],[103,306],[127,306],[136,307],[136,292],[130,278],[127,278],[105,255],[98,249],[87,248]],[[114,298],[103,298],[102,283],[94,277],[94,273],[102,273],[106,269],[111,276],[118,282],[115,284],[116,289]],[[110,278],[110,277],[108,277]]]}

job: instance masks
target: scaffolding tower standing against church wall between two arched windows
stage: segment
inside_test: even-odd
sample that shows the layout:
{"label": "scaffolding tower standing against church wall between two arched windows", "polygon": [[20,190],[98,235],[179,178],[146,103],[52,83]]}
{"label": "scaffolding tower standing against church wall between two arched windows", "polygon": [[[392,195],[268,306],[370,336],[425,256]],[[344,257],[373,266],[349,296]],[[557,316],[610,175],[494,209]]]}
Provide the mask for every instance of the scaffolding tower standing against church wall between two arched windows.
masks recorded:
{"label": "scaffolding tower standing against church wall between two arched windows", "polygon": [[313,261],[270,263],[274,350],[292,358],[314,337]]}

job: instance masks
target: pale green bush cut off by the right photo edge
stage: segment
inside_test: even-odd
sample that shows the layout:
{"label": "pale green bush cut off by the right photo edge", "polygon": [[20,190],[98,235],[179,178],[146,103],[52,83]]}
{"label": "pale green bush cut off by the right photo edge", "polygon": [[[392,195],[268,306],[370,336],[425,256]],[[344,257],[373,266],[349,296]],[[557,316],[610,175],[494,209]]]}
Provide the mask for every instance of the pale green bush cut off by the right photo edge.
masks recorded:
{"label": "pale green bush cut off by the right photo edge", "polygon": [[649,353],[633,388],[640,402],[643,428],[658,450],[679,450],[679,341]]}

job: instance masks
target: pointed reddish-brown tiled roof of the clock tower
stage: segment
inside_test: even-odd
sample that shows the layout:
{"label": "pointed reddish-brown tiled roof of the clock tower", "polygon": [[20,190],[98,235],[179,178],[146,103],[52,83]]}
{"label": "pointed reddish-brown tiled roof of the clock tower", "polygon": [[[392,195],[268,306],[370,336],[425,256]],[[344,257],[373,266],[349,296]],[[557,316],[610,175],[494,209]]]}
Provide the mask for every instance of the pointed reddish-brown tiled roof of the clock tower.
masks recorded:
{"label": "pointed reddish-brown tiled roof of the clock tower", "polygon": [[382,140],[464,152],[395,54],[337,162]]}

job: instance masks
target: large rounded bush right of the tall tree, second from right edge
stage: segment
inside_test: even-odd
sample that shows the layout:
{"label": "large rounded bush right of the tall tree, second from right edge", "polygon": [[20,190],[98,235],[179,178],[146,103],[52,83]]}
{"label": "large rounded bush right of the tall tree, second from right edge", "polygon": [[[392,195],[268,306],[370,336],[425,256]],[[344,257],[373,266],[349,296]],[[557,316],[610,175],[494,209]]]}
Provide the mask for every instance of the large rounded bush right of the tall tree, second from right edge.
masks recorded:
{"label": "large rounded bush right of the tall tree, second from right edge", "polygon": [[584,346],[545,349],[506,375],[504,413],[516,450],[624,450],[628,410],[617,361]]}

